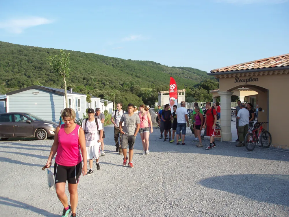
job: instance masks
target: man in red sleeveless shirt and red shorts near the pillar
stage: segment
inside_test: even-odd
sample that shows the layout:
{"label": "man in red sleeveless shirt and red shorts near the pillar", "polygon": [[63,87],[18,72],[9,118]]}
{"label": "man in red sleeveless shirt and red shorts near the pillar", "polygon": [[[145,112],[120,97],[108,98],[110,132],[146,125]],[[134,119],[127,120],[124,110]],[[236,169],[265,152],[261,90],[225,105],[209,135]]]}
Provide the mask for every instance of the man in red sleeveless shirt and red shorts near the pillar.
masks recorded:
{"label": "man in red sleeveless shirt and red shorts near the pillar", "polygon": [[212,148],[216,147],[214,136],[217,113],[216,110],[211,107],[211,102],[206,102],[206,108],[208,108],[208,110],[206,112],[206,119],[203,128],[205,128],[207,124],[207,136],[210,136],[210,146],[208,146],[206,149],[212,150]]}

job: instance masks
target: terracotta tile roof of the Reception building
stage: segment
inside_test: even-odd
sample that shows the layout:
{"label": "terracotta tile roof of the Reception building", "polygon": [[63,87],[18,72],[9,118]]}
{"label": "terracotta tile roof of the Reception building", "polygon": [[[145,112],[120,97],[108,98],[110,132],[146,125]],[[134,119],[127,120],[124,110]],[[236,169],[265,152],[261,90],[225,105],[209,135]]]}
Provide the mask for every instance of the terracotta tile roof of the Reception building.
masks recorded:
{"label": "terracotta tile roof of the Reception building", "polygon": [[250,69],[266,69],[273,67],[289,67],[289,54],[283,54],[274,57],[268,57],[260,60],[244,62],[231,66],[226,66],[218,69],[211,70],[210,73],[223,72],[223,71],[244,71]]}

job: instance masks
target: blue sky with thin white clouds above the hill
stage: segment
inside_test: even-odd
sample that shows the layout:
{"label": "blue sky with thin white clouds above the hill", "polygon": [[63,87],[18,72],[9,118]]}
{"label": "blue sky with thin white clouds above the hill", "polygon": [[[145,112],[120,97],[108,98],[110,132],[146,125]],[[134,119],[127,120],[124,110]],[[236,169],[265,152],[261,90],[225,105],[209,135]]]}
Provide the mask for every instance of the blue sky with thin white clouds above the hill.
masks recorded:
{"label": "blue sky with thin white clouds above the hill", "polygon": [[0,41],[209,72],[289,53],[289,0],[0,1]]}

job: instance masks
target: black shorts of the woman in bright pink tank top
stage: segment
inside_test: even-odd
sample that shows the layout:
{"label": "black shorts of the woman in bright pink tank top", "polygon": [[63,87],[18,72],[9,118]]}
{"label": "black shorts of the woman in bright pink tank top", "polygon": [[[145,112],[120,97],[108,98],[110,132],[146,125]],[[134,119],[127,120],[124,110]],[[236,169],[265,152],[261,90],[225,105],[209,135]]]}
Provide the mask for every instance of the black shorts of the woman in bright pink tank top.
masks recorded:
{"label": "black shorts of the woman in bright pink tank top", "polygon": [[72,166],[66,167],[59,165],[57,163],[54,164],[54,176],[55,183],[65,182],[66,180],[69,184],[77,184],[81,175],[82,163]]}

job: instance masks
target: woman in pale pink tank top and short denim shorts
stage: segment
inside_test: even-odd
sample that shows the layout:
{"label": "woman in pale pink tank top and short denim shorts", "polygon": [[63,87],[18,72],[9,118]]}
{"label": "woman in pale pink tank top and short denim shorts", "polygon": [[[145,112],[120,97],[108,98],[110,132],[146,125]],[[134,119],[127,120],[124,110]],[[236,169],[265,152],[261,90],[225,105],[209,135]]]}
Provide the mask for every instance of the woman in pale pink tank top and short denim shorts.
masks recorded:
{"label": "woman in pale pink tank top and short denim shorts", "polygon": [[140,130],[138,132],[142,139],[142,148],[144,149],[142,155],[149,155],[149,126],[151,126],[151,133],[153,133],[153,123],[146,106],[140,105],[138,116],[140,117]]}

